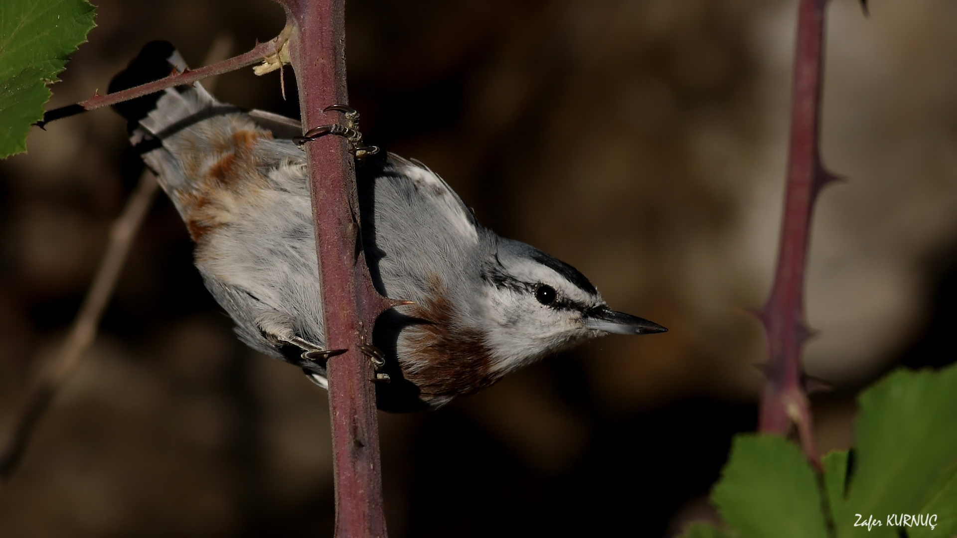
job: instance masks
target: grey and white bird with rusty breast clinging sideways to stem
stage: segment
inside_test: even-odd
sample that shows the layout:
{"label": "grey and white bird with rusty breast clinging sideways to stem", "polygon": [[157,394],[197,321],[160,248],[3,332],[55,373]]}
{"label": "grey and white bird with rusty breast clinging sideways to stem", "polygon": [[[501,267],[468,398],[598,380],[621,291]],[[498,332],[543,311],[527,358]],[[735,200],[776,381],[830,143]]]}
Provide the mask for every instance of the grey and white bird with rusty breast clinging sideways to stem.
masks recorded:
{"label": "grey and white bird with rusty breast clinging sideways to stem", "polygon": [[[109,92],[174,69],[187,69],[183,56],[167,41],[148,43]],[[358,113],[335,106],[350,125],[320,134],[348,131],[359,142]],[[217,101],[199,82],[114,108],[186,223],[196,268],[238,338],[327,389],[333,351],[302,149],[319,131],[302,136],[298,121]],[[363,157],[356,182],[371,280],[406,302],[378,318],[368,346],[377,378],[389,381],[376,383],[380,409],[436,409],[592,338],[667,330],[612,310],[568,263],[481,226],[424,164],[353,147]]]}

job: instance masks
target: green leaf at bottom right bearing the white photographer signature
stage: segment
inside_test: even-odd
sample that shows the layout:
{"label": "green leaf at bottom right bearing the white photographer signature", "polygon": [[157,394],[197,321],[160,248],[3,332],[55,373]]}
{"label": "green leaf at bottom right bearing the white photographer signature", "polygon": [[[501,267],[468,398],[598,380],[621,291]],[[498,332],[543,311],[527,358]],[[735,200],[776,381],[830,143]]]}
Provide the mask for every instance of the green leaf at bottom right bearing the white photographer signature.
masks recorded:
{"label": "green leaf at bottom right bearing the white photographer signature", "polygon": [[[957,469],[957,366],[895,371],[858,401],[855,469],[835,527],[841,536],[894,536],[887,516],[924,513]],[[855,514],[884,525],[854,527]]]}

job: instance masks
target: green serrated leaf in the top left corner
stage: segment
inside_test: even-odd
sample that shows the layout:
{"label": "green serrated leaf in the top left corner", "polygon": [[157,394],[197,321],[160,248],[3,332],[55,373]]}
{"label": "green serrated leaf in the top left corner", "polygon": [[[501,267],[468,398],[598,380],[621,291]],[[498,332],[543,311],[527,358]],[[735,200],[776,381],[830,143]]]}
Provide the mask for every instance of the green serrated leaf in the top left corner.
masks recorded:
{"label": "green serrated leaf in the top left corner", "polygon": [[27,149],[68,56],[95,26],[86,0],[0,1],[0,159]]}

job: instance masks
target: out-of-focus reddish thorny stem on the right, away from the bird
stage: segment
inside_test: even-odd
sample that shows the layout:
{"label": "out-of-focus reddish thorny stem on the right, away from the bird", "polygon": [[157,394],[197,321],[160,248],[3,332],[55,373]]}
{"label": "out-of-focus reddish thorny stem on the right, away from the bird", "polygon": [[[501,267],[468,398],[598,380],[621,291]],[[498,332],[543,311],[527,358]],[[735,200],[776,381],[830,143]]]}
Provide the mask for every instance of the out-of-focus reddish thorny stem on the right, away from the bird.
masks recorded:
{"label": "out-of-focus reddish thorny stem on the right, away from the bird", "polygon": [[808,459],[818,465],[812,415],[802,384],[801,351],[810,336],[804,313],[804,271],[814,200],[833,175],[819,153],[824,12],[827,0],[800,0],[790,111],[784,221],[774,285],[761,319],[768,333],[767,379],[759,428],[787,434],[793,421]]}

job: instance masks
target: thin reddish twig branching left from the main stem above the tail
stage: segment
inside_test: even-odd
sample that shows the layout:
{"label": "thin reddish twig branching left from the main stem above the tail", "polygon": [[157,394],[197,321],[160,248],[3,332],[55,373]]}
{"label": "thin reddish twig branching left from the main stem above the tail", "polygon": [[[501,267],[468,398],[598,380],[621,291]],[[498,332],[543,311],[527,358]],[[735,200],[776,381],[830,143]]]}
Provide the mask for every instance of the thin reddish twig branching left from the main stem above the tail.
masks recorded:
{"label": "thin reddish twig branching left from the main stem above the tail", "polygon": [[212,77],[214,75],[222,75],[223,73],[229,73],[230,71],[242,69],[243,67],[253,65],[256,62],[263,61],[266,58],[279,56],[279,53],[282,51],[282,48],[285,47],[288,40],[289,28],[286,27],[283,28],[282,32],[279,33],[275,38],[270,39],[265,43],[256,44],[256,47],[253,47],[253,50],[249,51],[248,53],[244,53],[239,56],[233,56],[229,59],[207,65],[206,67],[200,67],[199,69],[188,69],[182,73],[174,71],[166,78],[160,78],[159,80],[154,80],[140,86],[134,86],[132,88],[122,90],[121,92],[115,92],[105,96],[95,95],[86,101],[48,110],[43,115],[43,120],[37,122],[36,125],[40,128],[43,128],[43,126],[47,123],[50,123],[54,120],[59,120],[60,118],[73,116],[74,114],[78,114],[80,112],[93,110],[103,106],[109,106],[122,101],[129,101],[154,92],[158,92],[160,90],[164,90],[166,88],[171,88],[172,86],[191,84],[203,78]]}

